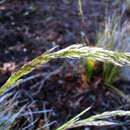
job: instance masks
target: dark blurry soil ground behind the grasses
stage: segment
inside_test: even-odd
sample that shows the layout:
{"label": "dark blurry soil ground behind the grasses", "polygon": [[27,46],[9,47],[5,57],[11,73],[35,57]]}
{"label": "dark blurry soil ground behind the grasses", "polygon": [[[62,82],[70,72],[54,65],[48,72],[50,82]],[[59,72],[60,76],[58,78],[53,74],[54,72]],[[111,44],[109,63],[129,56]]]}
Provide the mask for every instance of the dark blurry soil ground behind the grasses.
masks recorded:
{"label": "dark blurry soil ground behind the grasses", "polygon": [[[85,41],[88,39],[94,45],[96,33],[104,27],[105,17],[119,8],[113,4],[113,0],[106,3],[104,0],[83,0],[84,24],[81,22],[76,0],[7,0],[1,4],[0,84],[21,65],[46,50],[56,45],[61,49],[82,42],[82,31],[85,33]],[[40,76],[18,87],[16,100],[19,100],[19,106],[28,104],[28,112],[44,109],[52,112],[47,115],[33,115],[33,120],[29,116],[22,117],[14,125],[14,130],[25,127],[26,130],[34,130],[48,121],[53,122],[50,129],[55,129],[90,106],[92,109],[85,117],[104,111],[130,108],[126,101],[103,86],[103,79],[99,74],[93,78],[92,83],[87,84],[85,68],[79,60],[53,60],[24,79],[37,74]],[[35,120],[37,121],[29,127]],[[120,120],[125,121],[126,118]],[[130,128],[91,127],[87,130],[111,129]]]}

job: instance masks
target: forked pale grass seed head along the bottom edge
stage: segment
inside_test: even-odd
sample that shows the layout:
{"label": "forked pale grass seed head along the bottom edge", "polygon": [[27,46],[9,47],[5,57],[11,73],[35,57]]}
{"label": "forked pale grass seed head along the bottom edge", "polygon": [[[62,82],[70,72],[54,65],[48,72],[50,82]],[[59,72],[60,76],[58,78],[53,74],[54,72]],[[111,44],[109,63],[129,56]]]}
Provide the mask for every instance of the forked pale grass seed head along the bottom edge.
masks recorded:
{"label": "forked pale grass seed head along the bottom edge", "polygon": [[130,111],[116,110],[103,112],[101,114],[90,116],[86,119],[80,119],[80,117],[86,113],[90,108],[87,108],[68,122],[64,123],[62,126],[56,130],[67,130],[69,128],[81,127],[81,126],[112,126],[112,125],[123,125],[122,122],[107,121],[106,119],[115,116],[130,116]]}

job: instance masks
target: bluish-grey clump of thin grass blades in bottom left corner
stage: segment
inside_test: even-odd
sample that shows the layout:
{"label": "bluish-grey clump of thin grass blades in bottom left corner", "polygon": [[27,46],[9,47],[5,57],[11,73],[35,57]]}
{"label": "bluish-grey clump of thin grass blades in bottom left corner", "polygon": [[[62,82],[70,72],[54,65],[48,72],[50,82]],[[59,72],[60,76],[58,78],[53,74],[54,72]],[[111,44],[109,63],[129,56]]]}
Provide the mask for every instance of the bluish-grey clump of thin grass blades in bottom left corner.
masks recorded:
{"label": "bluish-grey clump of thin grass blades in bottom left corner", "polygon": [[[34,128],[38,119],[35,115],[43,114],[44,120],[43,127],[49,127],[54,122],[47,121],[48,114],[52,113],[52,109],[46,109],[45,107],[41,110],[33,109],[32,106],[36,103],[35,100],[24,103],[19,106],[22,100],[19,99],[20,92],[6,93],[0,98],[0,130],[13,130],[15,129],[32,129]],[[24,97],[26,100],[26,97]],[[44,103],[43,103],[44,105]],[[19,126],[17,123],[24,119],[23,125]]]}

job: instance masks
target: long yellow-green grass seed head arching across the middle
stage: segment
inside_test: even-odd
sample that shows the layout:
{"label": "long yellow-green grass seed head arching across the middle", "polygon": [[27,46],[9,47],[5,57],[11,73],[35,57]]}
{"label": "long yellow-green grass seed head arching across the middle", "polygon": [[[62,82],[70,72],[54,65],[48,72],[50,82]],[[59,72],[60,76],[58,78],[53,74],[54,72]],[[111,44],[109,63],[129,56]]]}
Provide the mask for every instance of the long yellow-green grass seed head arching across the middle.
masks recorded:
{"label": "long yellow-green grass seed head arching across the middle", "polygon": [[29,63],[23,65],[18,71],[13,73],[7,82],[0,88],[0,95],[15,84],[22,76],[56,58],[92,58],[101,62],[110,62],[117,66],[125,64],[130,65],[130,53],[128,52],[109,51],[103,48],[75,44],[56,52],[48,51],[43,53]]}

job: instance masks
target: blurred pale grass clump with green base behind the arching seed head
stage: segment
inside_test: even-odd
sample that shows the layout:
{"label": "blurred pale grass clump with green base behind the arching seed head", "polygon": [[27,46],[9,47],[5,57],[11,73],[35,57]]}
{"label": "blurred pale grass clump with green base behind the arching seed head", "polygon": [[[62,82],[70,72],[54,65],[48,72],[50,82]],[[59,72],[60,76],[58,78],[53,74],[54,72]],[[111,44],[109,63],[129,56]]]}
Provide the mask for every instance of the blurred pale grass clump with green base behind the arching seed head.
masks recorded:
{"label": "blurred pale grass clump with green base behind the arching seed head", "polygon": [[[112,50],[112,51],[121,51],[121,52],[128,52],[129,51],[129,41],[130,41],[130,27],[129,22],[125,21],[122,22],[122,15],[116,13],[113,17],[109,17],[106,20],[105,28],[102,32],[98,33],[98,40],[97,46],[102,47],[104,49]],[[128,70],[128,66],[125,65]],[[121,96],[122,98],[126,99],[128,102],[129,96],[126,95],[124,92],[116,88],[113,84],[120,79],[125,71],[123,70],[124,67],[119,68],[111,63],[104,63],[103,64],[103,82],[104,85],[108,88],[116,91],[116,93]],[[122,73],[123,72],[123,73]],[[124,76],[126,78],[126,76]],[[125,79],[123,77],[123,79]]]}

